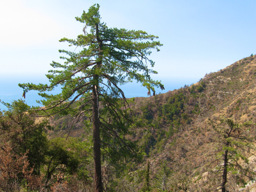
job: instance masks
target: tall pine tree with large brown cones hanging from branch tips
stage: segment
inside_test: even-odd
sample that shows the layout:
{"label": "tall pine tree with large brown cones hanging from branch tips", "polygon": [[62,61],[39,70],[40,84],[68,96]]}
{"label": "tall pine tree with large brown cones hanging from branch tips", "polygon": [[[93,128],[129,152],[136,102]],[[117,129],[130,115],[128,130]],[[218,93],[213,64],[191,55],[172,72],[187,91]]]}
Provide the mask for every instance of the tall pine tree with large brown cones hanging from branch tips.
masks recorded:
{"label": "tall pine tree with large brown cones hanging from branch tips", "polygon": [[[68,42],[70,46],[82,48],[82,51],[60,50],[68,57],[61,57],[65,59],[64,64],[52,62],[52,67],[57,70],[50,70],[46,75],[51,84],[26,83],[19,86],[24,93],[38,90],[39,95],[45,97],[41,101],[45,108],[38,109],[45,112],[45,116],[70,112],[74,117],[83,117],[92,122],[95,191],[102,191],[101,147],[106,146],[108,153],[116,153],[116,146],[119,145],[121,149],[132,152],[125,139],[129,130],[124,119],[129,114],[121,111],[128,103],[119,86],[136,80],[149,92],[155,92],[155,86],[163,87],[159,81],[150,78],[150,74],[157,72],[148,68],[148,64],[154,66],[154,62],[148,58],[151,54],[149,49],[159,51],[161,44],[154,41],[157,36],[141,30],[109,29],[101,22],[98,4],[90,7],[88,12],[84,11],[76,20],[85,23],[83,34],[77,39],[63,38],[60,42]],[[89,33],[86,29],[89,29]],[[58,85],[63,86],[60,94],[45,93]],[[72,108],[74,102],[77,108]],[[113,138],[114,150],[110,150],[113,143],[110,145],[101,140],[103,136]]]}

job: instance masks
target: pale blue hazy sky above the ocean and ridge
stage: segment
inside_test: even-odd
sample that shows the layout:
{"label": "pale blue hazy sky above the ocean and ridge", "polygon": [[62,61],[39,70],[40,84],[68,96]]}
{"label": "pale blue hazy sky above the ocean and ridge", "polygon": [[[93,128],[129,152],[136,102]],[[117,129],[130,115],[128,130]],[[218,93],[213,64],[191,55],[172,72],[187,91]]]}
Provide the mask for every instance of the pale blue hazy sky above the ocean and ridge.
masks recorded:
{"label": "pale blue hazy sky above the ocean and ridge", "polygon": [[[74,51],[58,40],[81,34],[83,24],[74,17],[95,3],[108,27],[159,36],[163,46],[151,59],[166,91],[256,53],[256,1],[0,1],[0,99],[14,82],[46,82],[49,64],[60,61],[58,49]],[[14,92],[22,95],[19,89]]]}

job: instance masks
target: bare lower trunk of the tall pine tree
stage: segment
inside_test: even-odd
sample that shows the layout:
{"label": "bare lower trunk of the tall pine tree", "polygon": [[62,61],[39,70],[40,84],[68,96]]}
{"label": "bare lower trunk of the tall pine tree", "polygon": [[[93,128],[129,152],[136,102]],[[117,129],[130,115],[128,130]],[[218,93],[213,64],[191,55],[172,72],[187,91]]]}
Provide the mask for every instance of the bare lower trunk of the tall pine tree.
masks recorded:
{"label": "bare lower trunk of the tall pine tree", "polygon": [[101,138],[99,134],[99,102],[98,102],[98,87],[92,88],[93,99],[93,160],[94,160],[94,191],[102,192],[102,178],[101,178]]}

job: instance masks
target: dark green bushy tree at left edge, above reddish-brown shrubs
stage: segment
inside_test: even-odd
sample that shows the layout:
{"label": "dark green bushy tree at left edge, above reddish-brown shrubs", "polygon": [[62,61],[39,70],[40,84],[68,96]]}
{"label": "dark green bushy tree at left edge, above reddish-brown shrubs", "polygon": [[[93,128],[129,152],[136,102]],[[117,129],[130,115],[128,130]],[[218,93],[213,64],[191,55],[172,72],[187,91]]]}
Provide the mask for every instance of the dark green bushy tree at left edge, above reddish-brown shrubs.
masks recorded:
{"label": "dark green bushy tree at left edge, above reddish-brown shrubs", "polygon": [[33,168],[35,175],[40,175],[48,149],[45,128],[51,127],[45,119],[35,123],[33,115],[26,112],[30,107],[23,100],[14,101],[7,106],[9,110],[0,117],[0,141],[7,140],[16,155],[27,153],[30,168]]}

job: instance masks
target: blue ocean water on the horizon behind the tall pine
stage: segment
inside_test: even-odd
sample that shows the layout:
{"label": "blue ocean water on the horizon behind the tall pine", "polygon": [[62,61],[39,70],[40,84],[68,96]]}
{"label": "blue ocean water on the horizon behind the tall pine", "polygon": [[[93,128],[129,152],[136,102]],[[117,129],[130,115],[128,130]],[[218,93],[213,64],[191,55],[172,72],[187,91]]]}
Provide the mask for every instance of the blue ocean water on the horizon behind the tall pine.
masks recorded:
{"label": "blue ocean water on the horizon behind the tall pine", "polygon": [[[199,80],[199,79],[198,79]],[[156,89],[156,93],[166,93],[169,90],[179,89],[180,87],[185,86],[185,84],[190,85],[192,83],[196,83],[198,80],[195,78],[187,78],[187,79],[164,79],[161,82],[164,84],[165,90],[161,90],[160,88]],[[36,91],[30,91],[26,93],[26,99],[22,97],[23,89],[18,86],[18,83],[48,83],[46,77],[36,77],[36,76],[23,76],[14,78],[9,77],[0,77],[0,100],[11,103],[14,100],[23,99],[27,105],[30,106],[40,106],[36,100],[41,100],[42,97],[38,95]],[[127,83],[121,86],[121,89],[124,92],[124,95],[127,98],[130,97],[148,97],[148,90],[145,87],[142,87],[138,83]],[[57,94],[61,92],[61,87],[55,88],[51,92],[51,94]],[[0,110],[7,110],[7,108],[0,103]]]}

